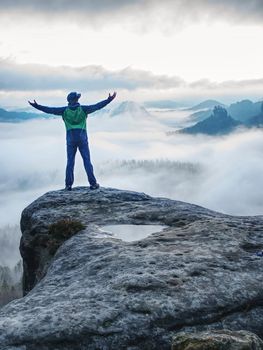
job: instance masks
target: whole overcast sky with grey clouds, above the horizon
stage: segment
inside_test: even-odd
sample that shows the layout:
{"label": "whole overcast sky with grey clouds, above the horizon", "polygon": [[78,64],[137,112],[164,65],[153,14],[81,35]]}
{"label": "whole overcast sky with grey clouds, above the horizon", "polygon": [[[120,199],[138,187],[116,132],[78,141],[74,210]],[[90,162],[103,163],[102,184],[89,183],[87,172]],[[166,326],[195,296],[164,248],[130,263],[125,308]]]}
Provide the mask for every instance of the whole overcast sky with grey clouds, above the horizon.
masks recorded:
{"label": "whole overcast sky with grey clouds, above the horizon", "polygon": [[0,106],[260,99],[262,19],[262,0],[0,0]]}

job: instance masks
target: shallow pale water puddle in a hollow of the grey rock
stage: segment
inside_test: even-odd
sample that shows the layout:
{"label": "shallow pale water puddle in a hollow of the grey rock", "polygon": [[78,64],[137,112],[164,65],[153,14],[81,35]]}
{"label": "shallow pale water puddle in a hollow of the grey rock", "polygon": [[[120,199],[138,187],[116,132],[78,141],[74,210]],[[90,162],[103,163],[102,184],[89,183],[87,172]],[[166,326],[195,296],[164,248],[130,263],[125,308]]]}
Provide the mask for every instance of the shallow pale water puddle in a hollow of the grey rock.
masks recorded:
{"label": "shallow pale water puddle in a hollow of the grey rock", "polygon": [[106,225],[99,228],[100,232],[125,242],[139,241],[152,233],[160,232],[164,225]]}

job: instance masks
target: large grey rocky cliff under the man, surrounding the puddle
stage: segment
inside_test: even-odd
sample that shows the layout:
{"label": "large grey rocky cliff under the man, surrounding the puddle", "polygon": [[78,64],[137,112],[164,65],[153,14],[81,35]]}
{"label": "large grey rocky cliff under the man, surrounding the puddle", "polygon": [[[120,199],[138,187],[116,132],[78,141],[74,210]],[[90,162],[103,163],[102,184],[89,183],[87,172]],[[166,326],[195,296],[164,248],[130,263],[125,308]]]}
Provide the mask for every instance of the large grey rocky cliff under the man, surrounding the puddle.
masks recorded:
{"label": "large grey rocky cliff under the man, surrounding the puddle", "polygon": [[[163,224],[140,241],[105,224]],[[170,349],[178,332],[263,337],[263,217],[102,188],[54,191],[22,214],[22,299],[0,312],[1,350]]]}

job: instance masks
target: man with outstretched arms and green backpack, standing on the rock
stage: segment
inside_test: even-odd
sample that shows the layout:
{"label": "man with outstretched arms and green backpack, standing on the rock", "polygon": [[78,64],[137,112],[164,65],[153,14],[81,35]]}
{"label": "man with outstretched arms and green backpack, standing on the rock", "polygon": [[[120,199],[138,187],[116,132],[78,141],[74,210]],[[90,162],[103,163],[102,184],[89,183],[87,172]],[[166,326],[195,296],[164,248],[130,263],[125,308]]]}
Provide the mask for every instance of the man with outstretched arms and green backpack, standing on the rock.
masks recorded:
{"label": "man with outstretched arms and green backpack, standing on the rock", "polygon": [[74,182],[74,164],[77,149],[83,159],[84,168],[86,170],[88,181],[91,190],[99,188],[99,184],[93,173],[93,166],[90,161],[90,152],[88,144],[88,136],[86,129],[86,119],[88,114],[105,107],[115,97],[116,92],[106,100],[96,103],[95,105],[80,105],[78,100],[81,94],[70,92],[67,96],[68,106],[66,107],[47,107],[39,105],[35,100],[28,103],[42,112],[61,115],[67,130],[67,167],[66,167],[66,187],[65,189],[71,191]]}

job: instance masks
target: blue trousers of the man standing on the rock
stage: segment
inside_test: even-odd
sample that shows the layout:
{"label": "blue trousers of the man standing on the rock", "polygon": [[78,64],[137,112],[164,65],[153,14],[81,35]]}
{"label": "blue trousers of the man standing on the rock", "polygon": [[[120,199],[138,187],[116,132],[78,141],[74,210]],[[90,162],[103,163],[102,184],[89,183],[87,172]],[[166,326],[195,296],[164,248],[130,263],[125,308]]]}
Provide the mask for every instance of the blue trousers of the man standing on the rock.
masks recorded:
{"label": "blue trousers of the man standing on the rock", "polygon": [[83,159],[90,185],[97,183],[93,173],[93,166],[90,162],[90,152],[88,136],[85,129],[71,129],[67,131],[67,168],[66,168],[66,186],[72,186],[74,182],[74,165],[77,149]]}

